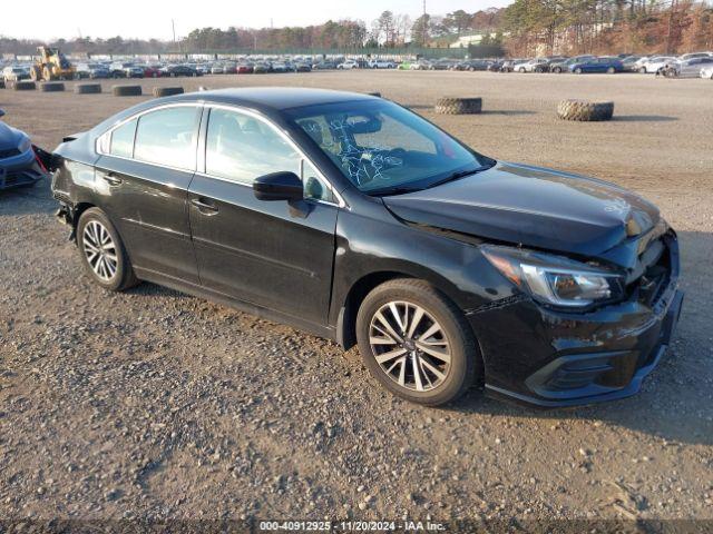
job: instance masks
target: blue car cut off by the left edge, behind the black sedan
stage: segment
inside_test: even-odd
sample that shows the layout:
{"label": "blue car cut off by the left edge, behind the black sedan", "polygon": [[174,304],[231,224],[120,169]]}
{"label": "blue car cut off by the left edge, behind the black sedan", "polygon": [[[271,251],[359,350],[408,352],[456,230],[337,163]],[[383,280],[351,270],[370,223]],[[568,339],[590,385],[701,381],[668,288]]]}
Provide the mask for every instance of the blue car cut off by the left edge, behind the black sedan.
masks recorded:
{"label": "blue car cut off by the left edge, behind the black sedan", "polygon": [[[4,111],[0,109],[2,117]],[[28,135],[0,120],[0,191],[33,186],[45,176],[47,169]]]}

